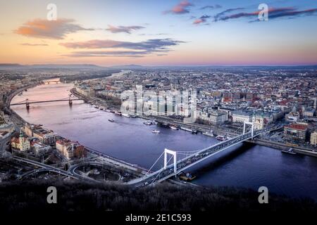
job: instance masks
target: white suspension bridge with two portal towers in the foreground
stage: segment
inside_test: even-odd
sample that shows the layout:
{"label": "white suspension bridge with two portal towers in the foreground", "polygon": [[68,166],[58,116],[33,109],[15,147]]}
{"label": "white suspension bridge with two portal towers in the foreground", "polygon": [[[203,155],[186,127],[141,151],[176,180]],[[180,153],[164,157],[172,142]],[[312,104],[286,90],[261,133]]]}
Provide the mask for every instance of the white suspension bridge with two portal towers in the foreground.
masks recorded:
{"label": "white suspension bridge with two portal towers in the foreground", "polygon": [[[251,126],[251,130],[247,129],[247,125]],[[128,184],[139,187],[139,186],[148,186],[158,184],[161,181],[164,181],[172,176],[179,174],[180,172],[189,169],[194,165],[197,165],[199,162],[210,158],[217,153],[222,152],[232,146],[237,145],[238,143],[242,143],[249,139],[253,139],[256,136],[262,134],[265,130],[258,129],[254,130],[254,124],[252,122],[244,122],[243,133],[239,136],[235,136],[226,141],[222,141],[220,143],[216,143],[213,146],[208,148],[204,148],[201,150],[194,151],[175,151],[165,149],[163,153],[159,156],[159,158],[154,162],[151,166],[147,174],[138,179],[134,179],[129,181]],[[238,129],[240,129],[239,127]],[[151,172],[151,169],[154,168],[155,165],[158,164],[159,160],[163,157],[163,167],[157,170],[156,172]],[[173,161],[171,161],[173,159]]]}

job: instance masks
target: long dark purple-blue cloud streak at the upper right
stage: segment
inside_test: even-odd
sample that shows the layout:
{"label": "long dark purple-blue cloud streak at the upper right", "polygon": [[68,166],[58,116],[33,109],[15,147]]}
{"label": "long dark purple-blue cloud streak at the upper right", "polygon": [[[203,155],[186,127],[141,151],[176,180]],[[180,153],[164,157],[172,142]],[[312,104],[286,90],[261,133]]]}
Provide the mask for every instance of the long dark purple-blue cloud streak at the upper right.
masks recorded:
{"label": "long dark purple-blue cloud streak at the upper right", "polygon": [[[224,11],[227,13],[228,11]],[[249,22],[256,22],[259,21],[257,16],[259,15],[260,11],[254,11],[251,13],[235,13],[232,15],[224,15],[225,13],[218,13],[218,15],[215,16],[214,22],[217,21],[226,21],[226,20],[232,20],[232,19],[237,19],[237,18],[256,18],[255,20],[251,20]],[[285,7],[285,8],[269,8],[268,9],[268,19],[272,20],[275,18],[282,18],[282,17],[287,17],[287,18],[295,18],[301,15],[316,15],[315,13],[317,12],[317,8],[310,8],[306,9],[303,11],[297,11],[296,8],[293,7]]]}

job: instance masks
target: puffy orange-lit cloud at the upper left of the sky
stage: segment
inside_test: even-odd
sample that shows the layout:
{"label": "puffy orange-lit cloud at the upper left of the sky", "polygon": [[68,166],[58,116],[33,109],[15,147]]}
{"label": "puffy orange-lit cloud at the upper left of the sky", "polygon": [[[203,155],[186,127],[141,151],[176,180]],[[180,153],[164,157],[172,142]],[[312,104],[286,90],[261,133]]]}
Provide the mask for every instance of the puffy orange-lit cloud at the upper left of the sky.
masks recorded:
{"label": "puffy orange-lit cloud at the upper left of the sky", "polygon": [[35,19],[24,23],[15,30],[15,34],[21,34],[27,37],[37,37],[46,39],[64,39],[66,34],[74,33],[80,30],[87,29],[74,23],[73,19],[58,19],[58,20],[42,20]]}

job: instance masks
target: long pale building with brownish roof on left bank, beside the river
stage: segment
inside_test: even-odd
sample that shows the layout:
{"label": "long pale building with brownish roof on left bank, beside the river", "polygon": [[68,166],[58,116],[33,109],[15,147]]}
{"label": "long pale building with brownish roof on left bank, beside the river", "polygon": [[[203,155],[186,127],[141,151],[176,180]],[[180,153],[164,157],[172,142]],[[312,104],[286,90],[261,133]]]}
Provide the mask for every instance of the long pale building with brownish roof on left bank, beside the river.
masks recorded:
{"label": "long pale building with brownish roof on left bank, beside the river", "polygon": [[42,125],[26,124],[24,129],[27,136],[34,136],[42,143],[49,146],[54,146],[59,139],[59,136],[55,134],[54,131],[44,129],[42,128]]}

